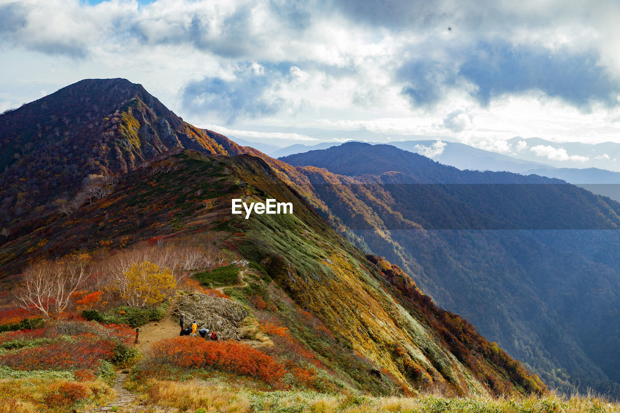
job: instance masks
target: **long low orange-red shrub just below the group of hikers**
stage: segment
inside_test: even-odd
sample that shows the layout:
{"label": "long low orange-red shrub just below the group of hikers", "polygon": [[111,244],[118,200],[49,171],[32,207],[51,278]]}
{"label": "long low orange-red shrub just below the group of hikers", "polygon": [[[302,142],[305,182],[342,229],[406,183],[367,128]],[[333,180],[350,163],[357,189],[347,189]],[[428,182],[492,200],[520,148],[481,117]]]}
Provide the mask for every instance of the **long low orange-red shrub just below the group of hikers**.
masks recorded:
{"label": "long low orange-red shrub just below the group of hikers", "polygon": [[238,375],[252,376],[271,384],[281,383],[286,371],[273,357],[235,341],[208,342],[195,337],[175,337],[153,344],[154,364],[184,368],[212,366]]}

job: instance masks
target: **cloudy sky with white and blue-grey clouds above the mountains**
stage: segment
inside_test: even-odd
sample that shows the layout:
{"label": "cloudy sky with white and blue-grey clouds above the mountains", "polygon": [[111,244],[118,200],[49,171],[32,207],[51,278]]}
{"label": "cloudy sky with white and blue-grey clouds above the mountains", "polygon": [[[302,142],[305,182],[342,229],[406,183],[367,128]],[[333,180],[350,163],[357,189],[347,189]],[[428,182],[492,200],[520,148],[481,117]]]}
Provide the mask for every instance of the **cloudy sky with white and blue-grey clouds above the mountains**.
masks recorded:
{"label": "cloudy sky with white and blue-grey clouds above the mountains", "polygon": [[0,0],[0,110],[122,77],[278,145],[620,142],[618,21],[604,0]]}

